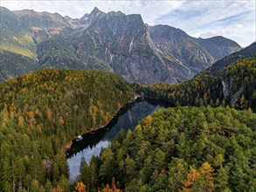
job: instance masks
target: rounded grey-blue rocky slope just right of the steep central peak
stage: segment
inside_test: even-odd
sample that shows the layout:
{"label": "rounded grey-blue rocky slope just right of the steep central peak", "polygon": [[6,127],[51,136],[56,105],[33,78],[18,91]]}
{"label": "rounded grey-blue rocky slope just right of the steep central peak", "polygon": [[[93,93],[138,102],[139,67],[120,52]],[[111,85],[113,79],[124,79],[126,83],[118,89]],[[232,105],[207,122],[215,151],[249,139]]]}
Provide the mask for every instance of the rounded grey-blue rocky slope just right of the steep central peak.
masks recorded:
{"label": "rounded grey-blue rocky slope just right of the steep central peak", "polygon": [[208,51],[184,31],[168,25],[148,26],[148,29],[156,47],[167,58],[186,66],[191,74],[200,72],[215,61]]}

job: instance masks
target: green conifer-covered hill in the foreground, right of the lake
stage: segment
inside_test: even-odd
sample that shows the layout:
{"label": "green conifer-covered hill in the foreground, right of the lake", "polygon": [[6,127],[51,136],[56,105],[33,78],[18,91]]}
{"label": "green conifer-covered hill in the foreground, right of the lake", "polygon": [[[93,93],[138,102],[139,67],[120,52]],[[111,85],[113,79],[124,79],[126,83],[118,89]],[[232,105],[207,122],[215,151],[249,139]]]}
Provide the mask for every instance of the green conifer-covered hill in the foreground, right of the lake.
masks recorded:
{"label": "green conifer-covered hill in the foreground, right of the lake", "polygon": [[159,110],[83,162],[80,182],[86,191],[115,182],[125,191],[255,191],[255,125],[255,113],[230,107]]}

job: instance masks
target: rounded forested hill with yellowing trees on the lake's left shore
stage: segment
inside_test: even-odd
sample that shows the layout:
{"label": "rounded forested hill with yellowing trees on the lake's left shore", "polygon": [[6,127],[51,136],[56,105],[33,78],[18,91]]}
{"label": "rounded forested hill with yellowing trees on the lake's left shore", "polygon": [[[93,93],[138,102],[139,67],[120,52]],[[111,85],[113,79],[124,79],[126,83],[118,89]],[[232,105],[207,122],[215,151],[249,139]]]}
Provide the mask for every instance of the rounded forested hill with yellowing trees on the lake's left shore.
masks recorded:
{"label": "rounded forested hill with yellowing trees on the lake's left shore", "polygon": [[114,73],[47,69],[0,84],[1,191],[69,191],[66,143],[134,99]]}

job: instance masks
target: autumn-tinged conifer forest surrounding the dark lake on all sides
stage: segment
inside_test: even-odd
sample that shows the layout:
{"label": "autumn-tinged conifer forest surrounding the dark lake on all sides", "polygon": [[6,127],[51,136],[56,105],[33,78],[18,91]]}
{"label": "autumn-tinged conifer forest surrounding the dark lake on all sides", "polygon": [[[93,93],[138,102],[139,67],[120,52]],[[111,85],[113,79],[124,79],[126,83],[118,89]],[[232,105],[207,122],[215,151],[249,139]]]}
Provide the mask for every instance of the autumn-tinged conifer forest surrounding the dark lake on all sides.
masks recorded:
{"label": "autumn-tinged conifer forest surrounding the dark lake on all sides", "polygon": [[[0,189],[255,191],[255,64],[256,58],[241,59],[220,77],[204,74],[177,85],[128,84],[111,72],[58,69],[3,82]],[[70,185],[68,141],[106,125],[135,93],[177,107],[119,134],[100,157],[82,161],[80,180]]]}

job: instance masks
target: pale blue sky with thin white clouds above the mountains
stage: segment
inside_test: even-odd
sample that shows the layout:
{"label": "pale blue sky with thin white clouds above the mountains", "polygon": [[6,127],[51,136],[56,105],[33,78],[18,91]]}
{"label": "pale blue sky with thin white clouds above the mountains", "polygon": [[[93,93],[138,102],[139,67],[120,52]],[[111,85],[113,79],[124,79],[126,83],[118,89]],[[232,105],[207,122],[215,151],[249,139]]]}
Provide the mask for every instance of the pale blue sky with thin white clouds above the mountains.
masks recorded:
{"label": "pale blue sky with thin white clouds above the mountains", "polygon": [[125,14],[141,14],[149,25],[168,24],[195,38],[223,36],[242,47],[256,40],[256,1],[254,0],[0,0],[9,10],[58,12],[62,16],[80,18],[94,7],[104,12],[121,10]]}

